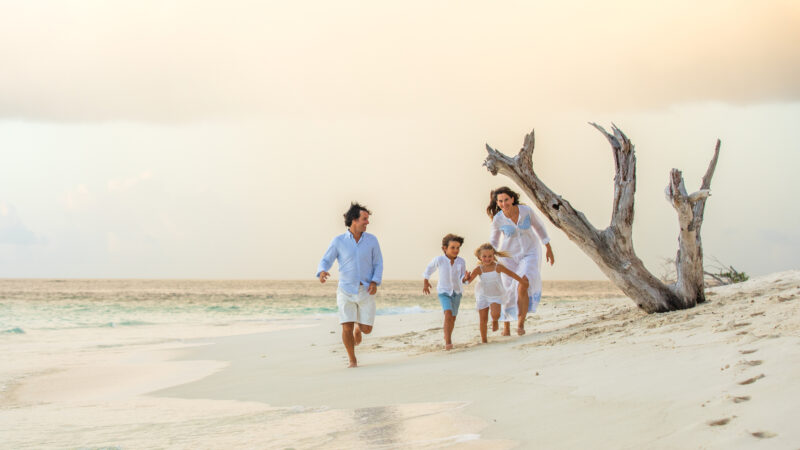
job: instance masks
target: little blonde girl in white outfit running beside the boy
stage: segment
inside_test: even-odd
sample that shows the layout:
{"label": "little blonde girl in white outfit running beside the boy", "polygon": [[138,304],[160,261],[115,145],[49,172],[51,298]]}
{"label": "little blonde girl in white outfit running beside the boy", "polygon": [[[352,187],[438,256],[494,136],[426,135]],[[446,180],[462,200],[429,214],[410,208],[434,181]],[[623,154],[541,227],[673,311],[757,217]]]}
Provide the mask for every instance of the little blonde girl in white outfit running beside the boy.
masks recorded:
{"label": "little blonde girl in white outfit running beside the boy", "polygon": [[497,321],[500,319],[500,306],[505,297],[505,289],[500,280],[500,274],[505,274],[516,280],[521,286],[528,288],[528,278],[522,277],[508,270],[505,266],[497,262],[497,257],[509,256],[506,252],[498,252],[492,244],[486,243],[475,250],[475,256],[480,264],[472,272],[468,273],[467,281],[472,281],[480,276],[481,282],[475,288],[475,306],[478,310],[480,319],[481,342],[488,342],[486,338],[486,328],[489,321],[489,310],[492,312],[492,331],[497,331]]}

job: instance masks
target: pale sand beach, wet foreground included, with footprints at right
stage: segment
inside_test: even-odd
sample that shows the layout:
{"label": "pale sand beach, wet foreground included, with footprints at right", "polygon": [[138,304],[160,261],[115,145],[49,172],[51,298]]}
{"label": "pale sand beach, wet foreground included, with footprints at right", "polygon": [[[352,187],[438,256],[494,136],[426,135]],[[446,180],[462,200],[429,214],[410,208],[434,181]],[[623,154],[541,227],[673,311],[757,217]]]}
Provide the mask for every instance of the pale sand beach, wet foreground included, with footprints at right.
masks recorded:
{"label": "pale sand beach, wet foreground included, with footprints at right", "polygon": [[[547,287],[545,287],[547,289]],[[647,315],[626,298],[543,302],[479,344],[465,297],[380,316],[347,369],[335,318],[84,355],[26,377],[8,448],[797,448],[800,271]]]}

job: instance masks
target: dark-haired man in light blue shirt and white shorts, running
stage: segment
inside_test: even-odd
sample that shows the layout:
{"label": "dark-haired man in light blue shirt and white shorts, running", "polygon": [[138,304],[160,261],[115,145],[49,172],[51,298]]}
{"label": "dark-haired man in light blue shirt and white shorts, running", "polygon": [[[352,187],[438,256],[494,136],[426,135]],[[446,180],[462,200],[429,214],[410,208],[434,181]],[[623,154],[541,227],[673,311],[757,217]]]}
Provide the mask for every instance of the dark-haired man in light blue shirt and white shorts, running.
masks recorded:
{"label": "dark-haired man in light blue shirt and white shorts, running", "polygon": [[351,203],[344,213],[347,232],[333,238],[317,269],[317,278],[324,283],[328,270],[339,260],[339,287],[336,303],[339,323],[342,324],[342,343],[350,358],[348,367],[357,367],[355,346],[361,343],[361,333],[372,332],[375,321],[375,293],[383,276],[383,256],[378,239],[367,233],[370,211]]}

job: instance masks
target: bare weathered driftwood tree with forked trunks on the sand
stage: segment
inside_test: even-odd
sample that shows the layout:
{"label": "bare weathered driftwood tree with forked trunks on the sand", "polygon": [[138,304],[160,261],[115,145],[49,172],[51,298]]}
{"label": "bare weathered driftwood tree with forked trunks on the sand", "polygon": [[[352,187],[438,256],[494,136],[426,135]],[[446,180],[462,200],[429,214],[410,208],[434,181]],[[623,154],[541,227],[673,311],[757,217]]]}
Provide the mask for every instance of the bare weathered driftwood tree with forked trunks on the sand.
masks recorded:
{"label": "bare weathered driftwood tree with forked trunks on the sand", "polygon": [[550,222],[561,229],[581,250],[600,267],[600,270],[645,311],[664,312],[692,308],[705,301],[703,284],[703,246],[700,227],[711,188],[711,177],[719,157],[720,141],[708,165],[700,189],[688,194],[683,175],[672,169],[666,188],[667,199],[678,213],[680,234],[675,259],[677,281],[664,284],[651,274],[633,249],[633,196],[636,192],[636,155],[633,144],[616,126],[613,134],[591,124],[608,139],[614,154],[614,206],[611,224],[598,230],[586,216],[550,190],[533,170],[534,133],[525,136],[517,156],[509,157],[493,149],[484,165],[492,175],[501,173],[517,183]]}

